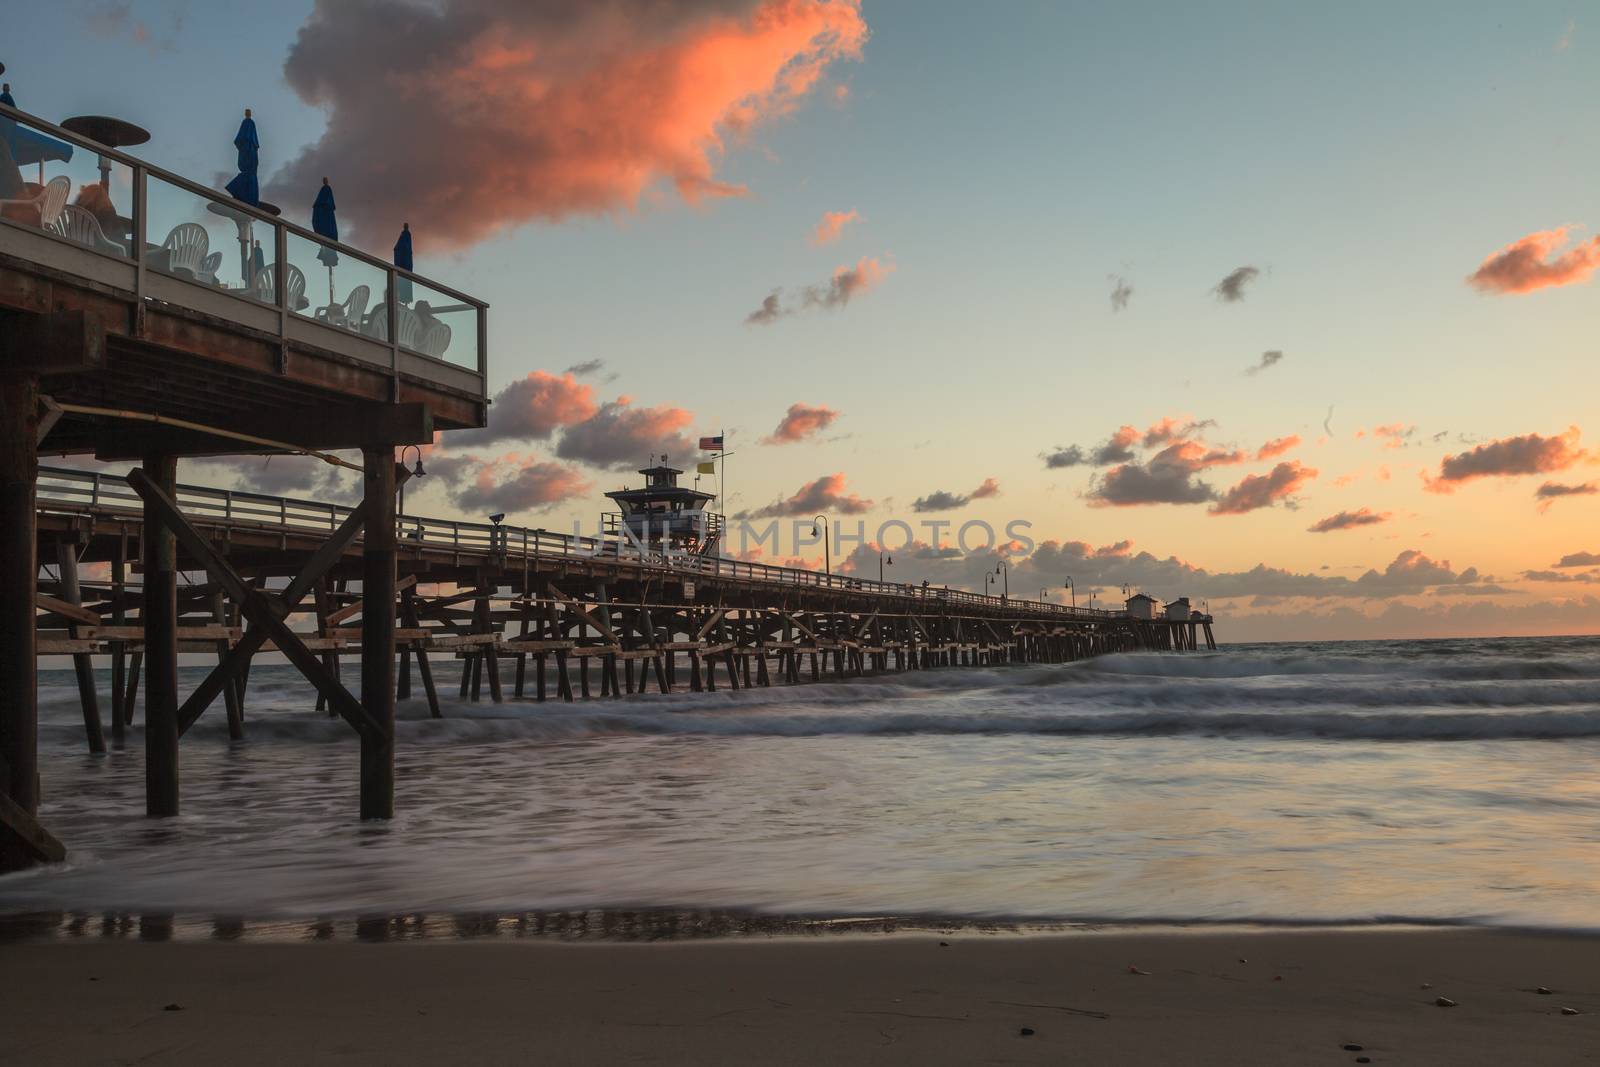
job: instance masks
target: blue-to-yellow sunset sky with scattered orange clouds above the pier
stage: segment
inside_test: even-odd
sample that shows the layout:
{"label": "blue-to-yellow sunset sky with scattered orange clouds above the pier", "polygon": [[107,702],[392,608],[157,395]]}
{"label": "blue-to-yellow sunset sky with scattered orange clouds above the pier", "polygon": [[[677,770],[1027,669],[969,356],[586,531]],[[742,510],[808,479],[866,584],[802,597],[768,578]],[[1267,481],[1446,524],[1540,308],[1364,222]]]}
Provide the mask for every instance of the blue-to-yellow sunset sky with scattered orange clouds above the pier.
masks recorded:
{"label": "blue-to-yellow sunset sky with scattered orange clouds above the pier", "polygon": [[19,107],[218,187],[251,107],[288,218],[326,174],[491,304],[414,514],[592,530],[725,430],[747,558],[821,565],[822,512],[891,579],[1229,640],[1600,632],[1600,2],[80,2],[6,45]]}

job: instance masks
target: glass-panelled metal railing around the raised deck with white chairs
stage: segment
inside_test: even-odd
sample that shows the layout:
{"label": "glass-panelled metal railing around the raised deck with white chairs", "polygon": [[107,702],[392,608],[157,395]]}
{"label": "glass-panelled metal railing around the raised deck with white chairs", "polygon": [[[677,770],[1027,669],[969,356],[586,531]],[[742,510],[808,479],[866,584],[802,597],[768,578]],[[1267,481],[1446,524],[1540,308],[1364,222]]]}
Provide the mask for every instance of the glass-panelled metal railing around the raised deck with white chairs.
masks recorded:
{"label": "glass-panelled metal railing around the raised deck with white chairs", "polygon": [[[226,317],[261,328],[258,318],[270,309],[277,312],[272,333],[283,339],[290,338],[291,322],[296,333],[301,333],[298,323],[314,323],[312,333],[326,346],[338,350],[357,346],[378,354],[381,365],[397,376],[402,365],[427,366],[427,360],[434,360],[475,374],[475,390],[486,395],[486,302],[5,104],[0,104],[0,138],[6,141],[19,178],[38,166],[40,192],[27,194],[22,203],[59,208],[51,218],[43,218],[40,210],[34,222],[27,206],[11,202],[0,214],[0,232],[14,227],[42,234],[94,253],[99,261],[120,264],[141,306],[154,299],[149,275],[170,278],[186,293],[178,302],[197,310],[218,314],[222,309]],[[78,154],[83,158],[75,163]],[[94,166],[88,166],[91,157]],[[46,178],[46,168],[56,173]],[[67,181],[69,197],[72,186],[80,186],[78,200],[69,200],[66,208],[46,198],[48,186],[61,179]],[[93,202],[85,202],[93,186],[99,186],[99,192]],[[210,250],[210,243],[186,240],[186,226],[192,227],[187,237],[205,230],[208,242],[208,227],[221,227],[222,246],[216,254],[202,251]],[[230,264],[235,240],[237,286],[230,280],[234,267],[224,266]],[[325,267],[328,299],[322,304]],[[341,267],[342,299],[334,293]],[[382,285],[381,293],[378,285]],[[357,296],[357,288],[366,290],[365,298]],[[171,293],[173,286],[165,291]],[[370,301],[371,310],[355,314],[362,301]],[[350,341],[341,342],[341,336]]]}

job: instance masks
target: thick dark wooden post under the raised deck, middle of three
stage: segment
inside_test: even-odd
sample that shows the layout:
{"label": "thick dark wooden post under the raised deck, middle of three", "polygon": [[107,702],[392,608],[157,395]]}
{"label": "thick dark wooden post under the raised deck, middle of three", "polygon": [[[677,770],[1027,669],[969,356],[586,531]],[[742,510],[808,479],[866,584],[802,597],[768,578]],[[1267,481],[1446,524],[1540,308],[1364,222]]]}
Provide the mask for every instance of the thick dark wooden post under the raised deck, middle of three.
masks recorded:
{"label": "thick dark wooden post under the raised deck, middle of three", "polygon": [[[178,458],[146,456],[144,477],[178,496]],[[178,814],[178,541],[144,504],[144,814]]]}

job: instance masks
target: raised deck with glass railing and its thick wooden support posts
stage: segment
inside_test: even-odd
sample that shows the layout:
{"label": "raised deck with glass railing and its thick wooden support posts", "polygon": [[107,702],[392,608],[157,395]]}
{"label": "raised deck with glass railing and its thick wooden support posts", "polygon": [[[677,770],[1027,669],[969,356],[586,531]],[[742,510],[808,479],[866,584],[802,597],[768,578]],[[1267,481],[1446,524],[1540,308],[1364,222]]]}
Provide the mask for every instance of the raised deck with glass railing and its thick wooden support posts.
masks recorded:
{"label": "raised deck with glass railing and its thick wooden support posts", "polygon": [[[70,122],[118,125],[91,118]],[[262,635],[336,689],[362,736],[362,814],[387,817],[394,619],[365,627],[365,696],[350,696],[283,625],[293,600],[240,579],[182,517],[176,464],[360,448],[363,504],[304,584],[368,525],[363,589],[392,600],[394,450],[483,426],[486,371],[483,301],[0,106],[0,870],[62,853],[35,819],[40,451],[141,464],[130,483],[141,499],[147,814],[178,813],[181,542]],[[78,667],[88,675],[86,654]]]}

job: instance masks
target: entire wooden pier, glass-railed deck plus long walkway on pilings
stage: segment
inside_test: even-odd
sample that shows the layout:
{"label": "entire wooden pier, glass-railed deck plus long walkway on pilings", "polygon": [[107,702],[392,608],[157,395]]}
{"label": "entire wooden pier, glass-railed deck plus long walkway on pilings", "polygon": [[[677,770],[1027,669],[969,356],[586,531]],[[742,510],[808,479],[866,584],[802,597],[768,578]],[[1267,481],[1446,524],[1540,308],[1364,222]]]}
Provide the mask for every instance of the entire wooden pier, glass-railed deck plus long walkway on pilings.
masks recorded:
{"label": "entire wooden pier, glass-railed deck plus long walkway on pilings", "polygon": [[[37,821],[38,656],[72,656],[90,752],[123,744],[142,713],[146,813],[165,817],[181,809],[184,734],[221,704],[229,737],[246,739],[251,664],[278,653],[355,731],[360,814],[386,819],[395,701],[414,685],[443,715],[450,681],[464,699],[650,699],[1216,646],[1208,616],[397,515],[413,472],[395,450],[485,424],[485,304],[14,109],[0,120],[98,154],[107,189],[131,190],[115,240],[43,208],[0,216],[0,870],[64,854]],[[242,253],[272,250],[264,267],[243,259],[237,286],[184,229],[218,219]],[[341,299],[328,270],[317,307],[306,275],[320,253],[371,285],[347,282]],[[184,456],[328,450],[362,451],[355,507],[176,483]],[[139,466],[42,470],[42,451]],[[190,693],[181,653],[216,657]],[[112,669],[106,709],[96,656]],[[446,662],[459,680],[438,675]]]}

